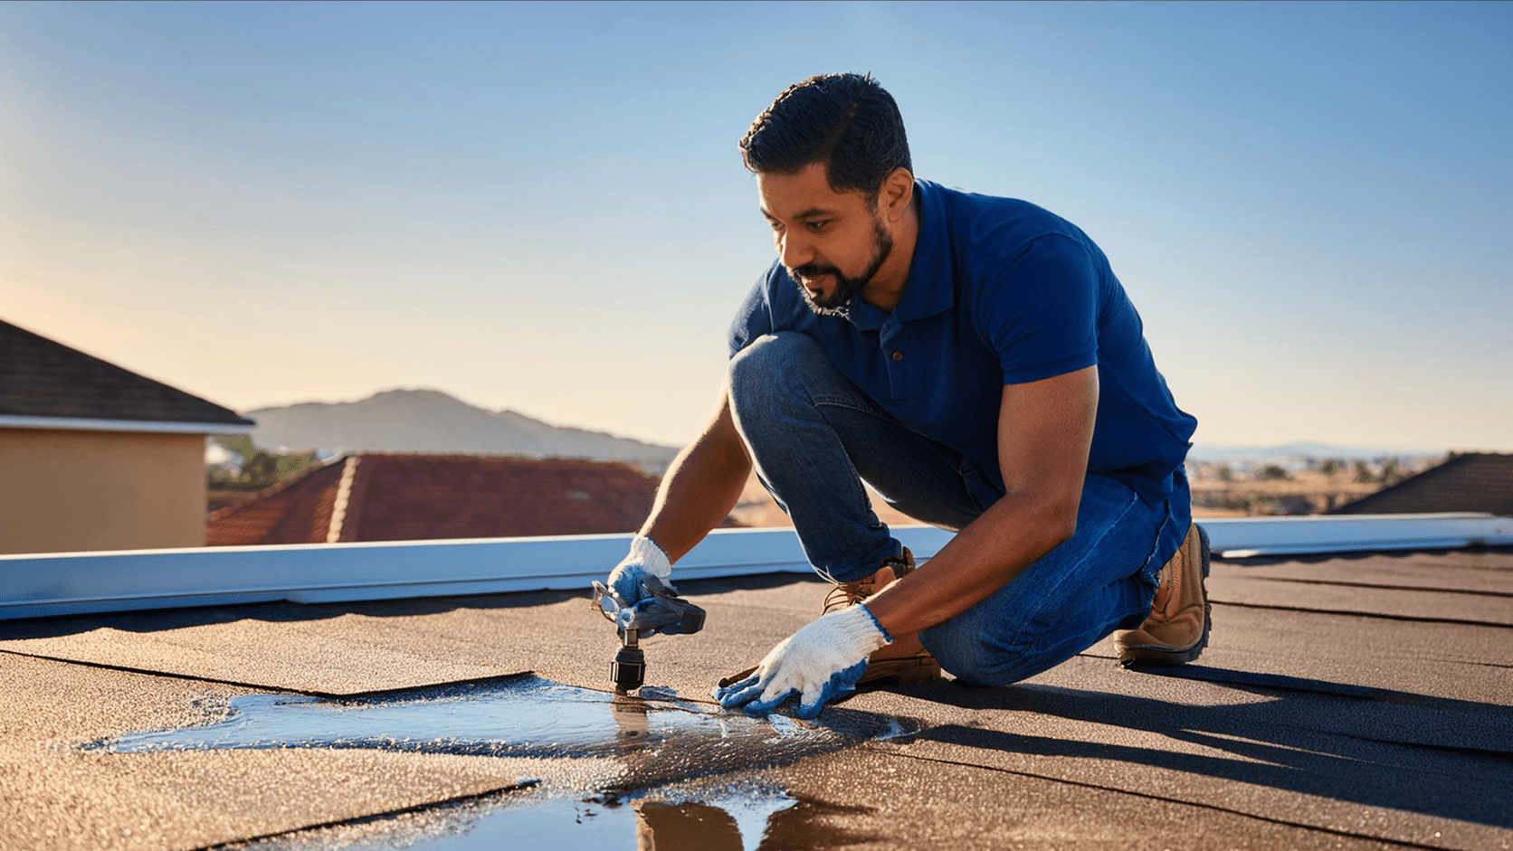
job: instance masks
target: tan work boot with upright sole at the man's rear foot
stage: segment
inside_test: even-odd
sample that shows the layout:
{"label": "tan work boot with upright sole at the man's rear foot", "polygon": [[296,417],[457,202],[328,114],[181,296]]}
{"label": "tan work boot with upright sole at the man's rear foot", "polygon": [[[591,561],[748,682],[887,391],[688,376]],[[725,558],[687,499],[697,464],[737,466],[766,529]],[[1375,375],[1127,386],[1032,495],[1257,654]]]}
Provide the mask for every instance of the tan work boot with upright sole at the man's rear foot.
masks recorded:
{"label": "tan work boot with upright sole at the man's rear foot", "polygon": [[1150,617],[1139,629],[1114,633],[1121,665],[1183,665],[1203,653],[1209,642],[1209,596],[1203,588],[1207,576],[1209,535],[1194,523],[1182,547],[1160,568]]}

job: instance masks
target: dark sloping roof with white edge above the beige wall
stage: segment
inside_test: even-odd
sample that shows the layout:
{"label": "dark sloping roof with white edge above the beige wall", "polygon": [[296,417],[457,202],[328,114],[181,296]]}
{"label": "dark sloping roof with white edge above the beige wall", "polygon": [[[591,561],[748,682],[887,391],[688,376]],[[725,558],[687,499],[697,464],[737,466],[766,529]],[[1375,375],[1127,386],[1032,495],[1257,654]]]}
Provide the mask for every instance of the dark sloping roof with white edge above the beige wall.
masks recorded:
{"label": "dark sloping roof with white edge above the beige wall", "polygon": [[132,431],[133,423],[159,426],[148,431],[219,426],[198,429],[216,432],[256,425],[230,408],[0,322],[0,425]]}

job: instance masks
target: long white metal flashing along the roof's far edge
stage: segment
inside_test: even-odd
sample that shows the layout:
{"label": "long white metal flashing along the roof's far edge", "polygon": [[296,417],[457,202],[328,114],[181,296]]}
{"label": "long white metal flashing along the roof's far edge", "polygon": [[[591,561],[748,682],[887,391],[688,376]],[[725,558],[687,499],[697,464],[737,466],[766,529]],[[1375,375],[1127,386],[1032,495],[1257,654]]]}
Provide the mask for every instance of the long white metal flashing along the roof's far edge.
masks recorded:
{"label": "long white metal flashing along the roof's far edge", "polygon": [[[1348,550],[1513,546],[1513,518],[1489,514],[1204,520],[1216,553],[1303,555]],[[918,561],[952,534],[896,528]],[[0,620],[292,600],[586,590],[625,556],[625,535],[478,538],[412,543],[195,547],[0,556]],[[673,568],[673,582],[808,573],[793,529],[719,529]]]}

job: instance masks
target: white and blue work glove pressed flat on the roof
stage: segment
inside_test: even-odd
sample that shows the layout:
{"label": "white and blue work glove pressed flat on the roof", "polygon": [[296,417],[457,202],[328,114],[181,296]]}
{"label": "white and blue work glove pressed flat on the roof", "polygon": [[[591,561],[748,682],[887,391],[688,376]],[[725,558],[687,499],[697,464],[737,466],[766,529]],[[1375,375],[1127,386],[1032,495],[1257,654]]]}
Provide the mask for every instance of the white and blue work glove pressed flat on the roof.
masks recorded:
{"label": "white and blue work glove pressed flat on the roof", "polygon": [[814,718],[826,703],[856,691],[867,671],[867,656],[893,638],[858,603],[831,612],[790,635],[738,683],[714,689],[725,709],[743,706],[747,715],[767,715],[788,695],[799,695],[799,718]]}

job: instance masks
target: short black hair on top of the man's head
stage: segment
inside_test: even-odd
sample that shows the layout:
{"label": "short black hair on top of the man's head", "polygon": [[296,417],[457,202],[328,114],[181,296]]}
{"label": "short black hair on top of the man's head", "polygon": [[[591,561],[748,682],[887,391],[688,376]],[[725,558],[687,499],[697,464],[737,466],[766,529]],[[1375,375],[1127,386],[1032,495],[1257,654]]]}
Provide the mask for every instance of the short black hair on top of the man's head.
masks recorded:
{"label": "short black hair on top of the man's head", "polygon": [[823,162],[831,189],[859,189],[868,204],[893,169],[914,171],[899,104],[871,74],[822,74],[788,86],[740,144],[752,174]]}

